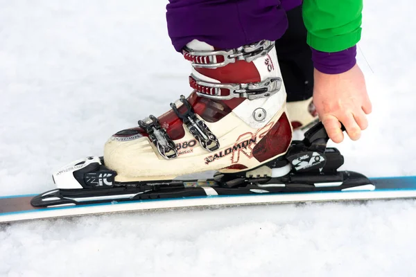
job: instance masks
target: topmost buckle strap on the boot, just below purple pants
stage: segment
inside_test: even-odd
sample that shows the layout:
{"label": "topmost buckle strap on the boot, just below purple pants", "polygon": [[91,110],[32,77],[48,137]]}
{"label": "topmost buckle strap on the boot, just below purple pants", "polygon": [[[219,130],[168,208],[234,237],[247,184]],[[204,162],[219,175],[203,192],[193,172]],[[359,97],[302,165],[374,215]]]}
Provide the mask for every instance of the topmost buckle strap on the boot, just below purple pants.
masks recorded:
{"label": "topmost buckle strap on the boot, just below purple pants", "polygon": [[189,60],[194,67],[216,68],[234,63],[237,60],[252,62],[258,57],[267,55],[273,47],[275,47],[275,42],[263,39],[254,44],[220,51],[193,51],[185,46],[182,53],[184,58]]}

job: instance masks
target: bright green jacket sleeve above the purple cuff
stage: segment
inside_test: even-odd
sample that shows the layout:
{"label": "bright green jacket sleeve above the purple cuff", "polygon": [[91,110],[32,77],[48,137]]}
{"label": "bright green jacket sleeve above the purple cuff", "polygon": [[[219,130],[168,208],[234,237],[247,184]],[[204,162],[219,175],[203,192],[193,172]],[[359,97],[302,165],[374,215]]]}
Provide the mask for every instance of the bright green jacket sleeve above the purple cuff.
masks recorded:
{"label": "bright green jacket sleeve above the purple cuff", "polygon": [[361,39],[363,0],[304,0],[306,42],[323,52],[338,52]]}

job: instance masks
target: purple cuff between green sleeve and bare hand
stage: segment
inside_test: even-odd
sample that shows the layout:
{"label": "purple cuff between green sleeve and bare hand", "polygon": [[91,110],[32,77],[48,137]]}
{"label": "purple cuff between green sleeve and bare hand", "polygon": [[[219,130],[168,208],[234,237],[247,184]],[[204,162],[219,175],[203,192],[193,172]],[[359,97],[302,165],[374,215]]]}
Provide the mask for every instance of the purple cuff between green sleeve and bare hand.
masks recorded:
{"label": "purple cuff between green sleeve and bare hand", "polygon": [[340,74],[349,71],[356,64],[356,46],[338,52],[312,50],[313,66],[325,74]]}

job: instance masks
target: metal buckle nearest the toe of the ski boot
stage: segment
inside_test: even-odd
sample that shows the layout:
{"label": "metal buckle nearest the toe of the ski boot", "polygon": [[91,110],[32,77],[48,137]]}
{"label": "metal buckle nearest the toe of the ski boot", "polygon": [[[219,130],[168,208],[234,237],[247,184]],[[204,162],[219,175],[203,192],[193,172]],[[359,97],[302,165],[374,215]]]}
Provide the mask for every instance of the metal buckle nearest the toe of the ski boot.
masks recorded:
{"label": "metal buckle nearest the toe of the ski boot", "polygon": [[139,120],[138,124],[141,129],[144,129],[148,133],[150,141],[153,142],[162,157],[168,160],[177,158],[175,143],[173,143],[166,129],[162,128],[159,120],[155,116],[150,115],[144,120]]}

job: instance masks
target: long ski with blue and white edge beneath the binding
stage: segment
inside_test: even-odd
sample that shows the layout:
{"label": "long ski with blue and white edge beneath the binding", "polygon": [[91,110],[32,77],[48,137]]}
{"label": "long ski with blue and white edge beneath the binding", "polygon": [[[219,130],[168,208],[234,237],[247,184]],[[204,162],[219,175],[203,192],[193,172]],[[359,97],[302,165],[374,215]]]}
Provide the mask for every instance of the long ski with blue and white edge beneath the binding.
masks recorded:
{"label": "long ski with blue and white edge beneath the binding", "polygon": [[48,208],[35,208],[31,206],[31,199],[35,195],[12,195],[0,197],[0,222],[17,222],[44,218],[123,213],[166,208],[416,198],[416,176],[370,178],[370,181],[375,185],[374,190],[368,190],[365,186],[361,186],[338,191],[307,193],[216,195],[214,191],[205,188],[207,190],[207,196],[146,199],[129,202],[113,201],[99,204],[63,205]]}

